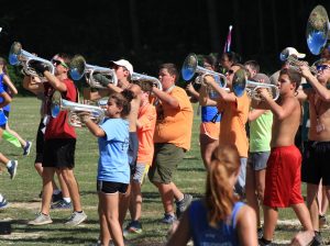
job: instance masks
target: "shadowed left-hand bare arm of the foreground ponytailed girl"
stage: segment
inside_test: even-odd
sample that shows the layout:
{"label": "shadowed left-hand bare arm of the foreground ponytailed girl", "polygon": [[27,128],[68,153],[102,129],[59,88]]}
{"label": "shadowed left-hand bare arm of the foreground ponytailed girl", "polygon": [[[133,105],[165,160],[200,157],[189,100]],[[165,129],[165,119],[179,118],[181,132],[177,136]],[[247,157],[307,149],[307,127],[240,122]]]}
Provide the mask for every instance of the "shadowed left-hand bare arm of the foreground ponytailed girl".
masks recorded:
{"label": "shadowed left-hand bare arm of the foreground ponytailed girl", "polygon": [[186,246],[188,241],[191,238],[190,230],[189,230],[188,211],[189,211],[189,209],[187,209],[185,211],[185,213],[183,214],[183,217],[182,217],[177,228],[175,230],[174,234],[170,236],[166,246],[172,246],[172,245]]}

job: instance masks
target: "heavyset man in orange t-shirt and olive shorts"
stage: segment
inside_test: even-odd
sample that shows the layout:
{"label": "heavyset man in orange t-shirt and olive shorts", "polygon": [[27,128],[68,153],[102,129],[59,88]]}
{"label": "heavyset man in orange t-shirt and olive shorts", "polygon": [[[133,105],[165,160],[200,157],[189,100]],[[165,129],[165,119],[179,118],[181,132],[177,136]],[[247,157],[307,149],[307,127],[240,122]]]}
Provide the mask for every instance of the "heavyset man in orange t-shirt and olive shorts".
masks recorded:
{"label": "heavyset man in orange t-shirt and olive shorts", "polygon": [[158,99],[157,121],[154,134],[155,154],[148,171],[150,180],[158,188],[164,205],[163,223],[176,221],[173,199],[176,200],[176,215],[179,216],[191,202],[190,194],[184,194],[173,182],[173,175],[184,154],[190,148],[193,107],[186,91],[175,86],[178,71],[174,64],[163,64],[160,80],[163,90],[153,87]]}

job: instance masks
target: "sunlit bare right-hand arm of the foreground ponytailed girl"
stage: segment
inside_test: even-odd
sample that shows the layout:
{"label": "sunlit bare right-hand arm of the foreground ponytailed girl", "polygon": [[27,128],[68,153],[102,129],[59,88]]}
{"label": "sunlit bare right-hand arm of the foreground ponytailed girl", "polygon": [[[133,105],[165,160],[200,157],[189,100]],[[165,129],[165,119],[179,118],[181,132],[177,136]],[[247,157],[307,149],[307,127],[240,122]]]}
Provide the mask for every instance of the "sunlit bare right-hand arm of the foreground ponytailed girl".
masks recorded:
{"label": "sunlit bare right-hand arm of the foreground ponytailed girl", "polygon": [[255,212],[248,205],[242,206],[238,213],[237,227],[240,245],[256,246],[256,216]]}

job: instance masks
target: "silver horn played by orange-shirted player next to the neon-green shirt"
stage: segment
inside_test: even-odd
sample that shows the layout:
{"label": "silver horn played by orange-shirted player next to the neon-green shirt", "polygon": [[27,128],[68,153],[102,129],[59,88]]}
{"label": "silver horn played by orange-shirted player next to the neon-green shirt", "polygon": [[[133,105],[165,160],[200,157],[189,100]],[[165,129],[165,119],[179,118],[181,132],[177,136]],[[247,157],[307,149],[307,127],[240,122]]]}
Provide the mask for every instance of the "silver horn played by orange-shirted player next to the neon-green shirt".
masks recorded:
{"label": "silver horn played by orange-shirted player next to the neon-green shirt", "polygon": [[[210,75],[221,88],[227,87],[227,78],[224,75],[198,66],[198,58],[196,54],[190,53],[184,62],[182,75],[184,80],[189,81],[195,74],[199,74],[202,77]],[[198,82],[202,83],[202,79],[198,79]]]}

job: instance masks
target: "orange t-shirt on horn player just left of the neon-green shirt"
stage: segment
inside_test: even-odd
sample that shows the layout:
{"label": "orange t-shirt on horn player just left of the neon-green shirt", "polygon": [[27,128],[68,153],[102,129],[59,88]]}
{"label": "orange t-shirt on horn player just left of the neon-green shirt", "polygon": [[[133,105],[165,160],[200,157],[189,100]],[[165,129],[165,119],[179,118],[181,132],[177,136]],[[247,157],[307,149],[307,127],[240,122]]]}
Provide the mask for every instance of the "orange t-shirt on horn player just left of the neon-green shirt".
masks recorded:
{"label": "orange t-shirt on horn player just left of the neon-green shirt", "polygon": [[248,158],[249,141],[245,131],[250,109],[250,99],[244,92],[235,102],[218,102],[218,110],[222,112],[220,123],[219,146],[235,145],[240,157]]}

